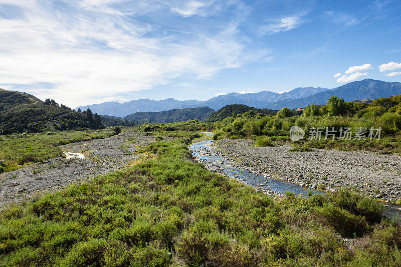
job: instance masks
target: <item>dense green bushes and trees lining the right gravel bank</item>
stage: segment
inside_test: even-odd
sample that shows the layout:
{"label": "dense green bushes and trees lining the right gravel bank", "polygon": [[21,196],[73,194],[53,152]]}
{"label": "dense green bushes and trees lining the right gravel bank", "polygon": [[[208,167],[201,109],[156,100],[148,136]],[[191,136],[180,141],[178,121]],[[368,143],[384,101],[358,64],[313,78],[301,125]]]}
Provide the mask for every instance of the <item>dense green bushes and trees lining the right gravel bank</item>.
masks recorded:
{"label": "dense green bushes and trees lining the right gravel bank", "polygon": [[[357,127],[367,128],[381,127],[381,140],[312,140],[301,141],[310,147],[338,148],[338,149],[366,149],[373,151],[399,152],[399,134],[401,132],[401,95],[380,98],[370,104],[363,102],[344,102],[343,99],[332,97],[326,105],[308,105],[303,115],[294,115],[288,109],[283,108],[275,116],[249,111],[234,117],[225,118],[214,124],[214,138],[245,138],[253,137],[257,142],[263,138],[255,136],[288,137],[291,126],[302,128],[308,135],[311,127],[351,127],[355,132]],[[324,137],[324,134],[323,134]],[[268,140],[265,138],[265,140]],[[283,141],[288,140],[284,138]],[[271,142],[266,142],[271,145]]]}

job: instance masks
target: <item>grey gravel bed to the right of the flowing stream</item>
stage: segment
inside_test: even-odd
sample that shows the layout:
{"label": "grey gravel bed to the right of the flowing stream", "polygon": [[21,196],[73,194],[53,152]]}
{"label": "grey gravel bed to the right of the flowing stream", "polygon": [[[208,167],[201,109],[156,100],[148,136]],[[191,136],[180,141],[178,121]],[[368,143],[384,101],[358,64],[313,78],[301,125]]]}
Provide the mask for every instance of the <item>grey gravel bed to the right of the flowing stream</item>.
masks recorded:
{"label": "grey gravel bed to the right of the flowing stream", "polygon": [[352,187],[367,196],[401,199],[401,156],[366,151],[313,149],[288,152],[290,145],[255,147],[250,140],[220,140],[214,153],[235,159],[239,167],[312,188]]}

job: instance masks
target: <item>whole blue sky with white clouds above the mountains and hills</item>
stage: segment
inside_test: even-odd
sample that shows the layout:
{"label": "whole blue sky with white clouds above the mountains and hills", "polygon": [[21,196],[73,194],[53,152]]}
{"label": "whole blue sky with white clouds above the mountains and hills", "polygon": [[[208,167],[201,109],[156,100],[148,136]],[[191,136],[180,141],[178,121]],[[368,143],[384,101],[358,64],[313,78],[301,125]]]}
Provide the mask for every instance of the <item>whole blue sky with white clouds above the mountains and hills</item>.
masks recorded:
{"label": "whole blue sky with white clouds above the mountains and hills", "polygon": [[401,1],[1,0],[0,88],[70,107],[401,81]]}

